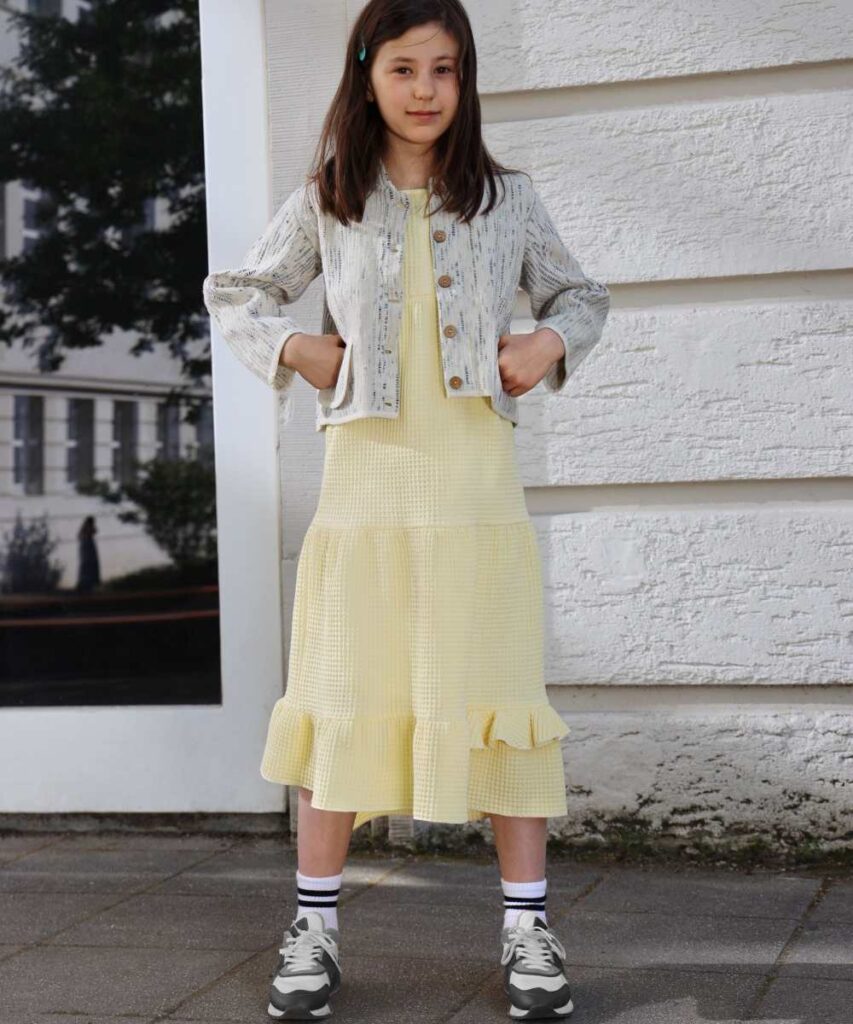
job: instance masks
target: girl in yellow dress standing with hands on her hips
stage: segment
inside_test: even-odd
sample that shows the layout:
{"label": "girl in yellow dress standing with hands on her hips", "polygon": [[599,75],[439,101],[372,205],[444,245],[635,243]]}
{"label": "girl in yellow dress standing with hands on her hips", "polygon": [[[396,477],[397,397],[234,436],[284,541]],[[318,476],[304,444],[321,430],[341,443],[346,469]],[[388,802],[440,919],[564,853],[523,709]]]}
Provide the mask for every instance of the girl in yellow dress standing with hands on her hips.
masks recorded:
{"label": "girl in yellow dress standing with hands on her hips", "polygon": [[[321,273],[312,335],[283,307]],[[519,286],[538,323],[513,335]],[[567,813],[569,730],[545,690],[513,428],[516,398],[541,380],[562,388],[599,340],[609,294],[529,177],[488,155],[459,0],[367,4],[313,175],[204,293],[229,347],[286,400],[297,373],[317,388],[326,442],[261,766],[299,786],[298,909],[269,1015],[331,1013],[350,836],[410,814],[491,819],[510,1016],[567,1016],[545,859],[547,818]]]}

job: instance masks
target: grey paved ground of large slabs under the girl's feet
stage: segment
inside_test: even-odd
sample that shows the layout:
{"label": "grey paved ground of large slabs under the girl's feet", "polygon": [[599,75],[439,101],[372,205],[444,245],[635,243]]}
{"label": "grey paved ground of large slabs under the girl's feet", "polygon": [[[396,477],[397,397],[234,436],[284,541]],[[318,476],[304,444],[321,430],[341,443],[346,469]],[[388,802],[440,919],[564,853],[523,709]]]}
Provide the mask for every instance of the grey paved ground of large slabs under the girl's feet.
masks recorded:
{"label": "grey paved ground of large slabs under the girl's feet", "polygon": [[[0,835],[0,1024],[268,1022],[296,909],[289,837]],[[853,879],[549,856],[572,1024],[853,1024]],[[352,852],[344,1022],[509,1020],[500,872]]]}

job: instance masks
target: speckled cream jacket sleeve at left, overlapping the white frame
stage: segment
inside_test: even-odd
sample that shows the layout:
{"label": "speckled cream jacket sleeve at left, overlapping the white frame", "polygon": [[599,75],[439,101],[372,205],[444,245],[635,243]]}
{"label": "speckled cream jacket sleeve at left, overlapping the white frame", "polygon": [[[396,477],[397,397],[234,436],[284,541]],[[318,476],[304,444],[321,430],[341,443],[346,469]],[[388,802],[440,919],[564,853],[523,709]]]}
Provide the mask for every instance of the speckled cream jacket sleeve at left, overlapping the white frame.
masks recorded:
{"label": "speckled cream jacket sleeve at left, overlapping the white frame", "polygon": [[228,347],[276,390],[288,388],[296,375],[279,362],[285,342],[306,333],[283,307],[322,272],[316,216],[303,184],[285,200],[239,267],[215,270],[202,285],[205,305]]}

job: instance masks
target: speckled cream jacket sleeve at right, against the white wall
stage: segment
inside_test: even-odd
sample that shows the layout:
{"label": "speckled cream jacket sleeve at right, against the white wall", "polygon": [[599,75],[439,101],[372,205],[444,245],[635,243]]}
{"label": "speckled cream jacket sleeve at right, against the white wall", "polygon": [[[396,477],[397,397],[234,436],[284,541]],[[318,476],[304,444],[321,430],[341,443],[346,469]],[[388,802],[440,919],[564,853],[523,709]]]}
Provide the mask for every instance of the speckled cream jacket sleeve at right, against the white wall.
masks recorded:
{"label": "speckled cream jacket sleeve at right, against the white wall", "polygon": [[565,353],[543,378],[549,391],[560,391],[600,339],[610,308],[610,293],[584,273],[536,188],[519,284],[529,296],[537,330],[550,327],[565,345]]}

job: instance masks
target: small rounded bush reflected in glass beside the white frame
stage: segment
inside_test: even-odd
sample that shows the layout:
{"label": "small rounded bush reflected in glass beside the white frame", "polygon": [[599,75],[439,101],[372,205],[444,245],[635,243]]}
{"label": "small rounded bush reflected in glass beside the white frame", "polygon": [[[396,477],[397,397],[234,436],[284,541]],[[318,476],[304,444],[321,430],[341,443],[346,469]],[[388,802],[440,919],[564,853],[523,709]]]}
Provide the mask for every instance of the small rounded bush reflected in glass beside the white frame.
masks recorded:
{"label": "small rounded bush reflected in glass beside the white frame", "polygon": [[94,480],[77,489],[111,505],[127,502],[135,506],[118,512],[117,518],[140,523],[181,570],[189,571],[216,557],[214,469],[195,456],[137,462],[133,482],[114,486]]}

